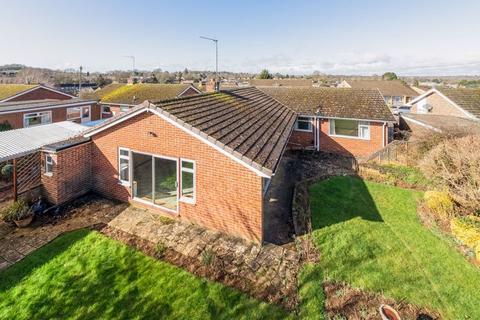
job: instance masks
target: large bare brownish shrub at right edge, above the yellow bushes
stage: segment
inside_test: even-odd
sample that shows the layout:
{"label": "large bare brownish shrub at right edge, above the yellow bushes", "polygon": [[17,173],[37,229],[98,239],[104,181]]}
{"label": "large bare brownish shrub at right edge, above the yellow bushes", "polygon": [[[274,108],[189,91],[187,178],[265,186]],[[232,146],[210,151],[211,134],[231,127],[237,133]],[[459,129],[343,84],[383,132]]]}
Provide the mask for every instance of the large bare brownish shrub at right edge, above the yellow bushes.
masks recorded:
{"label": "large bare brownish shrub at right edge, above the yellow bushes", "polygon": [[421,162],[426,176],[446,187],[462,206],[480,207],[480,138],[466,136],[442,141]]}

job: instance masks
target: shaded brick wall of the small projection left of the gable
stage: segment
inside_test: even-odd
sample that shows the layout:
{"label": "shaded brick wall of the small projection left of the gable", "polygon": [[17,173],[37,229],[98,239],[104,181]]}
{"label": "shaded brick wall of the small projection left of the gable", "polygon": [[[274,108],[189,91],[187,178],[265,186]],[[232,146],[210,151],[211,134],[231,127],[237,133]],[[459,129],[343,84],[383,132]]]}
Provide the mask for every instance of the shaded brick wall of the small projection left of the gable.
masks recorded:
{"label": "shaded brick wall of the small projection left of the gable", "polygon": [[53,204],[75,199],[91,188],[91,143],[83,143],[52,153],[53,172],[45,174],[42,152],[42,194]]}

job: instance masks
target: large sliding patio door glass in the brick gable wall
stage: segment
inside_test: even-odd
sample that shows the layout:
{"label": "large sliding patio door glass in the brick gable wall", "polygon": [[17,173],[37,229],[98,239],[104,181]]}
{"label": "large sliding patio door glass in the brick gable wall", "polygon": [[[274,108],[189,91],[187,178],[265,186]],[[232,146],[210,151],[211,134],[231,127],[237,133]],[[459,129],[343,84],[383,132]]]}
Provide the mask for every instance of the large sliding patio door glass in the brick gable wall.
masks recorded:
{"label": "large sliding patio door glass in the brick gable wall", "polygon": [[177,210],[177,161],[132,152],[133,196]]}

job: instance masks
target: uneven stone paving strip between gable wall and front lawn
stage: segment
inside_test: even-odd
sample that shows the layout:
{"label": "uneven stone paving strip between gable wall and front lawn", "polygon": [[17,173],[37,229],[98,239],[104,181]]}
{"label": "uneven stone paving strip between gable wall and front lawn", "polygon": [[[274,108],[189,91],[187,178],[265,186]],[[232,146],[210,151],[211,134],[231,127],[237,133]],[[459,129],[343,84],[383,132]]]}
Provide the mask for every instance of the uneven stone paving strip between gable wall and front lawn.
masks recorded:
{"label": "uneven stone paving strip between gable wall and front lawn", "polygon": [[[107,230],[108,229],[108,230]],[[168,221],[161,215],[143,208],[129,207],[108,223],[104,233],[128,243],[119,234],[127,233],[152,243],[158,243],[195,261],[198,269],[211,256],[215,263],[200,276],[241,287],[257,297],[270,302],[294,307],[297,302],[297,274],[299,256],[294,245],[281,247],[273,244],[261,246],[240,238],[202,228],[177,220]],[[115,231],[116,230],[116,231]],[[125,238],[125,237],[123,237]],[[185,267],[176,261],[168,262]],[[187,266],[189,271],[190,266]],[[195,273],[195,270],[193,271]],[[232,280],[233,279],[233,280]],[[238,281],[242,282],[241,285]],[[251,292],[249,291],[251,290]]]}

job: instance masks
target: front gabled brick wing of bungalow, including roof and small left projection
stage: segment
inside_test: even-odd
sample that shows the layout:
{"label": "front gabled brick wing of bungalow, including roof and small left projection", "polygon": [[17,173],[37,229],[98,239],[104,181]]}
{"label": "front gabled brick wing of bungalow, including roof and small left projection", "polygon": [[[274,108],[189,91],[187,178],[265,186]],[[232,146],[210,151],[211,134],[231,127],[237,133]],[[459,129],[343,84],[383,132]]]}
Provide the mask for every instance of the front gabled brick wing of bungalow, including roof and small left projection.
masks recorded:
{"label": "front gabled brick wing of bungalow, including roof and small left projection", "polygon": [[296,114],[256,88],[142,105],[44,148],[43,193],[105,197],[261,242],[265,190]]}

